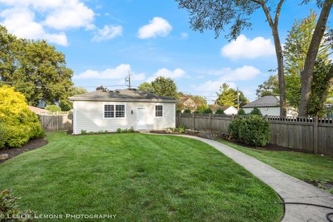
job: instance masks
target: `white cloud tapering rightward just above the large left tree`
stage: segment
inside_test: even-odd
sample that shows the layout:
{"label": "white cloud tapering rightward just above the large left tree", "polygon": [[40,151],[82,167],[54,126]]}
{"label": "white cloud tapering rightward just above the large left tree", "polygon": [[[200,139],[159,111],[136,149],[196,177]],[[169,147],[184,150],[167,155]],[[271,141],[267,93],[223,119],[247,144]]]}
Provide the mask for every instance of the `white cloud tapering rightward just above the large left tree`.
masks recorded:
{"label": "white cloud tapering rightward just above the large left tree", "polygon": [[67,36],[65,33],[46,33],[44,27],[35,22],[35,13],[28,8],[10,8],[0,13],[3,17],[1,24],[8,28],[8,31],[18,37],[33,40],[44,39],[48,42],[67,46]]}

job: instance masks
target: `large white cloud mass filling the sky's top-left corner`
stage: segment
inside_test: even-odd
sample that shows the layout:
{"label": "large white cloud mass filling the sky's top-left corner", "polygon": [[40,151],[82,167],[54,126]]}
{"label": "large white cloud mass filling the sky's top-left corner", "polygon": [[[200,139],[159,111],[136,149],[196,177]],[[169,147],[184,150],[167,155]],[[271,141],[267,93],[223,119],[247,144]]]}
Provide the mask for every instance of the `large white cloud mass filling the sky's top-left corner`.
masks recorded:
{"label": "large white cloud mass filling the sky's top-left corner", "polygon": [[50,33],[49,28],[57,31],[94,28],[94,11],[81,0],[0,0],[0,3],[9,6],[1,12],[1,24],[19,37],[67,46],[66,34]]}

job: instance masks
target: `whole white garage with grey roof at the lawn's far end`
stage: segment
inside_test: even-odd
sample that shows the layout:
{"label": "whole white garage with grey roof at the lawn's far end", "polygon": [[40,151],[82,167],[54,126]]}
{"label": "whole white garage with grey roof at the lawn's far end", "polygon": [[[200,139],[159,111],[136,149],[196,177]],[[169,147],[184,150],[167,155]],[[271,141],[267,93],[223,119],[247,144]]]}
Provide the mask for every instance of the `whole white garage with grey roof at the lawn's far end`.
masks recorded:
{"label": "whole white garage with grey roof at the lawn's far end", "polygon": [[71,96],[73,133],[117,128],[157,130],[176,127],[177,100],[137,89],[100,89]]}

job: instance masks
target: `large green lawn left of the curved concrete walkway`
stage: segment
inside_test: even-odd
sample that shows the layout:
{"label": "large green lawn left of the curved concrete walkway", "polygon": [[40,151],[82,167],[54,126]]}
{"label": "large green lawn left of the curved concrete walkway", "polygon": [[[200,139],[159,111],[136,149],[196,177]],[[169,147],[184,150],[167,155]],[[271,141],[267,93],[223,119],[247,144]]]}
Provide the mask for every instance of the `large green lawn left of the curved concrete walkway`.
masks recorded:
{"label": "large green lawn left of the curved concrete walkway", "polygon": [[[114,221],[280,221],[277,194],[195,139],[70,136],[0,164],[0,189],[38,214],[117,214]],[[76,220],[78,221],[78,220]]]}

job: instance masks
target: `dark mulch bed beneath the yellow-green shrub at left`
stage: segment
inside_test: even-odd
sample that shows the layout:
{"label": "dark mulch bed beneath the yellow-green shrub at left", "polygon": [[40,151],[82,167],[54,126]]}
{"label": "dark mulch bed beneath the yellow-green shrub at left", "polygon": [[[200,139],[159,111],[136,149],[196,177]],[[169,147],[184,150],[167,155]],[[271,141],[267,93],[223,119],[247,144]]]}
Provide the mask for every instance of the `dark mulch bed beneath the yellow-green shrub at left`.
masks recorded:
{"label": "dark mulch bed beneath the yellow-green shrub at left", "polygon": [[[25,153],[27,151],[32,151],[35,148],[40,148],[42,146],[45,146],[46,144],[48,144],[49,142],[47,142],[44,138],[39,138],[39,139],[31,139],[28,144],[25,144],[24,146],[22,146],[21,148],[8,148],[6,150],[0,150],[0,154],[5,154],[7,153],[9,158],[7,160],[9,160],[12,157],[15,157],[17,155],[20,155],[21,153]],[[0,160],[0,164],[5,162],[6,160]]]}

